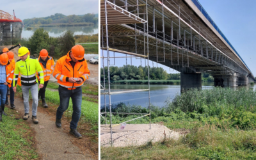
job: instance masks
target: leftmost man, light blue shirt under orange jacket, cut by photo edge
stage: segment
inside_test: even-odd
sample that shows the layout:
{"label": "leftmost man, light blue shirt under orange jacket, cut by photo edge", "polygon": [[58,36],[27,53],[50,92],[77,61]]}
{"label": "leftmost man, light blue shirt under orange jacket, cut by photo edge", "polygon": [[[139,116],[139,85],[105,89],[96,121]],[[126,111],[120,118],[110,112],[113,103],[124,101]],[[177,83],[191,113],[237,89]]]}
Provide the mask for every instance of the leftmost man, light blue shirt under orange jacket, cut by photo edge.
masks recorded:
{"label": "leftmost man, light blue shirt under orange jacket, cut by photo edge", "polygon": [[0,108],[0,121],[2,121],[2,115],[6,115],[4,113],[4,104],[7,93],[8,84],[12,83],[13,77],[13,67],[8,61],[8,56],[6,53],[0,55],[0,96],[1,96],[1,108]]}

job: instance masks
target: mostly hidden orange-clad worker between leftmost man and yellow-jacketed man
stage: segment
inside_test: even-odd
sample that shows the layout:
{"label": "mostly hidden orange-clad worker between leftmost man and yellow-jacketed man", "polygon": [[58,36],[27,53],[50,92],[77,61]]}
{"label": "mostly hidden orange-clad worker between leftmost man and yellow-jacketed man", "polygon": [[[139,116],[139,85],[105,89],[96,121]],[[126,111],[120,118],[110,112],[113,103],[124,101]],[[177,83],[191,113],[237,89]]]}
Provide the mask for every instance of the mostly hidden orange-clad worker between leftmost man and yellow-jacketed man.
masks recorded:
{"label": "mostly hidden orange-clad worker between leftmost man and yellow-jacketed man", "polygon": [[[7,52],[7,55],[8,55],[8,58],[9,58],[9,62],[10,62],[10,65],[12,65],[12,74],[14,72],[14,68],[15,68],[15,60],[14,60],[14,54],[12,51],[9,51]],[[10,78],[12,79],[12,77]],[[13,80],[13,79],[12,79]],[[15,106],[14,106],[14,92],[13,92],[13,87],[12,87],[12,82],[11,84],[8,84],[8,88],[9,88],[9,91],[10,91],[10,103],[11,103],[11,109],[14,109]],[[8,93],[6,94],[6,100],[5,100],[5,104],[6,105],[9,105],[9,102],[8,102]]]}

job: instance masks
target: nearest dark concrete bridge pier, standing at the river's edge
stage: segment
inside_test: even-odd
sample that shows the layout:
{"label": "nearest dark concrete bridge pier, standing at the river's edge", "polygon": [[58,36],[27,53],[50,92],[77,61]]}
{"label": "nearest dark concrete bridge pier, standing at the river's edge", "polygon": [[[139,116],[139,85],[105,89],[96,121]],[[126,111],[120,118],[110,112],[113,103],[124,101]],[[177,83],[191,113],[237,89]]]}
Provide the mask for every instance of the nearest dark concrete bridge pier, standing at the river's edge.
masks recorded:
{"label": "nearest dark concrete bridge pier, standing at the river's edge", "polygon": [[180,92],[191,88],[202,88],[202,75],[197,73],[180,73]]}

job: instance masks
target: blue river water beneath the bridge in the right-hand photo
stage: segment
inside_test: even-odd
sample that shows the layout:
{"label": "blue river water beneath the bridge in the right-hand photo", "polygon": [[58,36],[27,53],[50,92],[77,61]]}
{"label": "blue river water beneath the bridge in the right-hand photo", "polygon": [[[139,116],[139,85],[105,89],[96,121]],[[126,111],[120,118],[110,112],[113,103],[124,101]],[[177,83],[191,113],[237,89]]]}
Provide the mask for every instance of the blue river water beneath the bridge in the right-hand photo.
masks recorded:
{"label": "blue river water beneath the bridge in the right-hand photo", "polygon": [[[202,90],[209,90],[214,87],[214,83],[202,83]],[[239,86],[240,87],[240,86]],[[256,90],[256,86],[249,86]],[[148,89],[147,84],[111,84],[111,92],[132,89]],[[235,88],[236,89],[236,88]],[[108,92],[108,91],[107,91]],[[170,84],[150,84],[150,102],[154,106],[163,107],[166,100],[173,100],[180,94],[180,85]],[[148,106],[148,92],[132,92],[111,95],[111,104],[115,105],[124,102],[129,105]],[[109,97],[106,95],[106,104],[109,104]],[[104,95],[100,95],[100,108],[104,107]]]}

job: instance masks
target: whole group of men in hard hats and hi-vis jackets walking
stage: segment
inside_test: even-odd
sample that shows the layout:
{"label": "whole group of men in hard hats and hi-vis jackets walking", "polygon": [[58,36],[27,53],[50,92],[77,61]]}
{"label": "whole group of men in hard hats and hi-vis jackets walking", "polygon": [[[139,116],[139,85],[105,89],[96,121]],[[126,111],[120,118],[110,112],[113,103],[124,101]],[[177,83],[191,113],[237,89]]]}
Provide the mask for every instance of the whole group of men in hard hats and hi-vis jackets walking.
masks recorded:
{"label": "whole group of men in hard hats and hi-vis jackets walking", "polygon": [[[77,124],[81,116],[82,88],[84,81],[89,78],[90,71],[86,60],[84,60],[84,48],[81,45],[75,45],[66,56],[61,57],[55,65],[54,60],[48,55],[46,49],[40,51],[38,59],[30,56],[26,47],[20,47],[18,51],[19,60],[15,63],[13,52],[8,48],[3,49],[0,54],[0,121],[4,113],[4,104],[8,105],[7,90],[10,88],[10,108],[14,109],[14,93],[17,84],[22,88],[24,99],[24,120],[29,118],[29,90],[32,95],[32,120],[38,124],[36,117],[38,100],[42,99],[44,108],[48,105],[45,102],[45,88],[47,87],[50,76],[58,79],[60,106],[56,112],[56,127],[61,127],[61,117],[67,110],[70,97],[73,103],[72,120],[70,122],[70,133],[76,138],[82,138],[77,132]],[[38,85],[39,83],[39,85]],[[38,92],[38,87],[40,88]]]}

